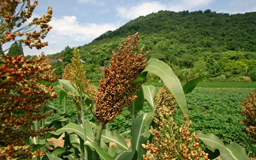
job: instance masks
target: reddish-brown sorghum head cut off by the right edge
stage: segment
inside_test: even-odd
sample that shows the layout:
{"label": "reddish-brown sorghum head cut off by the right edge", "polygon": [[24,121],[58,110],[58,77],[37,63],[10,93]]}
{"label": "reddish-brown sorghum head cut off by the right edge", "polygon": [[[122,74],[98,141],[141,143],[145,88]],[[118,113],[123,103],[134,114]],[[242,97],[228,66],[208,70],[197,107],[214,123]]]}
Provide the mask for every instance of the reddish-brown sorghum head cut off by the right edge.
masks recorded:
{"label": "reddish-brown sorghum head cut off by the right edge", "polygon": [[250,139],[256,143],[256,98],[253,92],[250,97],[242,103],[243,119],[241,123],[245,126],[246,132],[250,135]]}

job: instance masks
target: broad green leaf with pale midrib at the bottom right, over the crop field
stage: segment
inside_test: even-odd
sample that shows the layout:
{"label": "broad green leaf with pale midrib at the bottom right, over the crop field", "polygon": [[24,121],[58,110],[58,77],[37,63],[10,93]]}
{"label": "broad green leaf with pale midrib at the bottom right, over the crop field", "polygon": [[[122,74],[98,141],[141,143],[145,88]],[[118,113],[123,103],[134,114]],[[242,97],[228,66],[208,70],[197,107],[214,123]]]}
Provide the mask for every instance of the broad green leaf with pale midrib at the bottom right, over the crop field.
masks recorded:
{"label": "broad green leaf with pale midrib at the bottom right, over the crop field", "polygon": [[214,134],[208,133],[197,133],[198,138],[201,139],[207,146],[210,146],[211,150],[218,149],[220,151],[221,159],[249,159],[245,153],[242,146],[237,143],[230,143],[229,145],[224,145],[224,143]]}

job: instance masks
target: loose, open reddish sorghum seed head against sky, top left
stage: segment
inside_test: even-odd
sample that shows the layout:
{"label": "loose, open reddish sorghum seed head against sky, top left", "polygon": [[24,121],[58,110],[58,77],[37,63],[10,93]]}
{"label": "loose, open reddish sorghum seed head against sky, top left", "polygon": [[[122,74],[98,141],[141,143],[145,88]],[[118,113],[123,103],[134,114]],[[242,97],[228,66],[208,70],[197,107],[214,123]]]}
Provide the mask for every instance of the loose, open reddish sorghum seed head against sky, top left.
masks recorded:
{"label": "loose, open reddish sorghum seed head against sky, top left", "polygon": [[[33,3],[30,0],[0,1],[0,39],[2,44],[14,41],[15,37],[24,36],[26,39],[21,38],[19,42],[30,48],[41,49],[48,45],[47,42],[41,42],[41,40],[52,29],[52,26],[48,24],[52,18],[52,7],[48,7],[47,13],[43,17],[34,18],[27,26],[22,26],[31,18],[37,3],[37,0],[33,1]],[[33,31],[31,28],[38,29]]]}

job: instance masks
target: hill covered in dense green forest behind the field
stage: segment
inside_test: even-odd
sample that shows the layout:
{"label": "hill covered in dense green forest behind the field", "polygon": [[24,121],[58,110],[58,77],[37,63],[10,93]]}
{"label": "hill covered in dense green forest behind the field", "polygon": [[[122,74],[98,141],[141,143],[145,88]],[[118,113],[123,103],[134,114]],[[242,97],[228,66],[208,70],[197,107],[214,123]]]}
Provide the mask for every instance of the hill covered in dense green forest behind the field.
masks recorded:
{"label": "hill covered in dense green forest behind the field", "polygon": [[[219,81],[247,81],[244,76],[256,75],[256,12],[230,15],[205,10],[151,13],[79,46],[88,78],[98,79],[98,67],[107,66],[111,52],[137,32],[140,45],[150,50],[148,58],[166,62],[182,81],[206,74]],[[69,59],[69,49],[48,57]]]}

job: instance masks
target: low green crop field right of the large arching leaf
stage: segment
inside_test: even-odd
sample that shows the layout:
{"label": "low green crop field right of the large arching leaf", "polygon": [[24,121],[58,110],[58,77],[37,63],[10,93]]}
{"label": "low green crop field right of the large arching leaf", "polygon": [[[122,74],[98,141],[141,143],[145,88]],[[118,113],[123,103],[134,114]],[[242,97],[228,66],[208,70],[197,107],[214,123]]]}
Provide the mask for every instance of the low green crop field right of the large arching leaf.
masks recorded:
{"label": "low green crop field right of the large arching leaf", "polygon": [[[195,89],[186,95],[192,129],[195,132],[213,133],[224,143],[237,142],[246,146],[243,132],[241,103],[254,89]],[[182,122],[178,109],[174,115],[176,122]]]}

